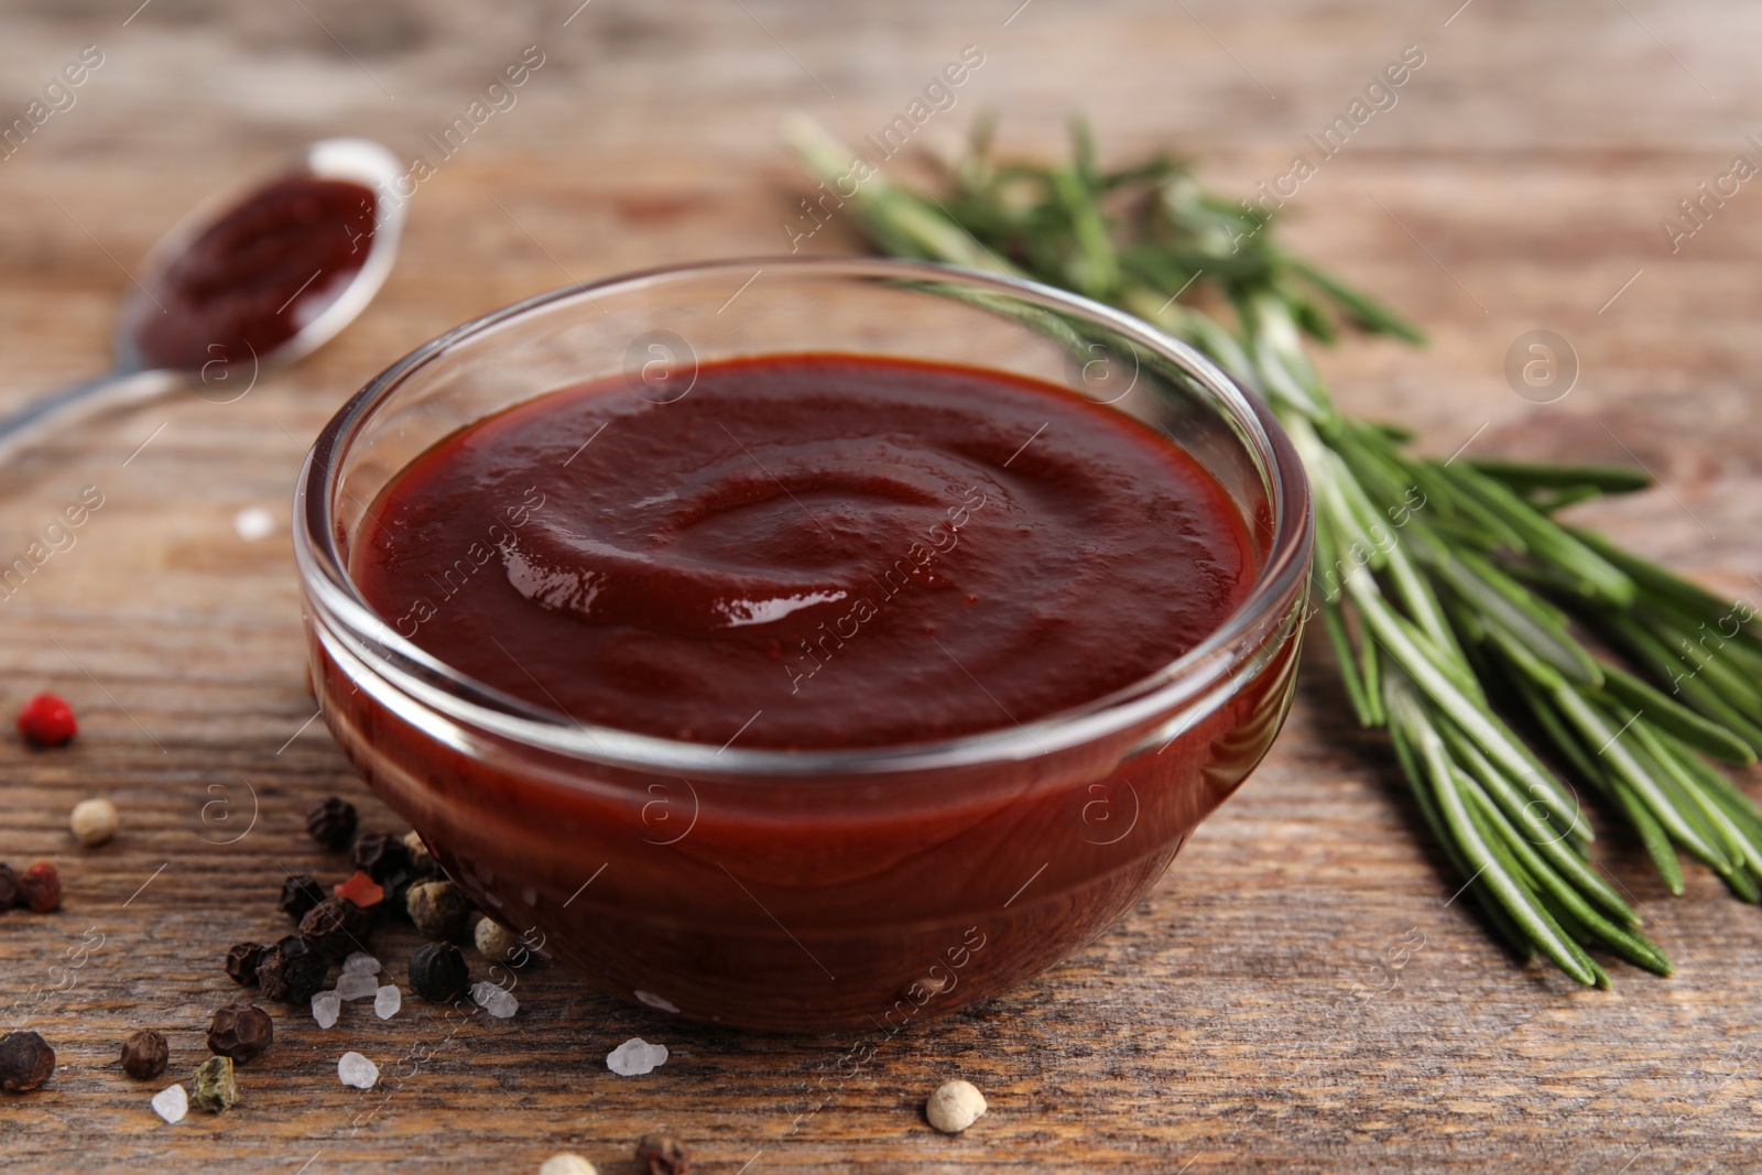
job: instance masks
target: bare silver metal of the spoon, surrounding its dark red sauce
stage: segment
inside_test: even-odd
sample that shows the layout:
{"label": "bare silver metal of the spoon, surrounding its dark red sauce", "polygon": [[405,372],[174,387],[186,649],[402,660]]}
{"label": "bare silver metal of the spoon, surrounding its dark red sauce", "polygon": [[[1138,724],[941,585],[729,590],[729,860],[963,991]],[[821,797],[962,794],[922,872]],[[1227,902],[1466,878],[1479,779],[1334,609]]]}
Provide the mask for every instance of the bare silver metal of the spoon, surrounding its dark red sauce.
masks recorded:
{"label": "bare silver metal of the spoon, surrounding its dark red sauce", "polygon": [[[81,381],[35,400],[11,416],[0,418],[0,462],[51,426],[70,425],[107,409],[152,400],[190,382],[190,377],[201,377],[210,388],[217,382],[224,384],[234,379],[243,366],[231,359],[210,359],[196,366],[148,365],[141,356],[139,331],[153,329],[152,315],[136,315],[130,312],[141,308],[143,296],[146,299],[153,298],[150,291],[155,284],[160,284],[167,266],[181,257],[220,217],[234,208],[241,208],[243,201],[261,192],[268,183],[296,176],[345,180],[374,190],[374,231],[372,241],[366,245],[366,261],[347,280],[347,285],[335,292],[322,312],[308,322],[300,324],[285,342],[277,344],[263,354],[252,352],[248,365],[250,379],[245,382],[245,389],[234,393],[233,386],[227,386],[227,400],[245,395],[263,368],[298,359],[347,326],[374,299],[374,294],[379,292],[386,275],[391,271],[391,259],[398,248],[398,234],[403,231],[403,199],[398,196],[388,199],[388,194],[393,192],[393,183],[402,176],[402,167],[398,166],[398,159],[379,143],[368,139],[321,139],[291,155],[270,176],[259,178],[241,190],[226,192],[217,199],[199,204],[159,240],[143,264],[143,280],[136,284],[137,289],[118,319],[113,344],[116,352],[115,366],[97,379]],[[137,321],[130,322],[130,319]]]}

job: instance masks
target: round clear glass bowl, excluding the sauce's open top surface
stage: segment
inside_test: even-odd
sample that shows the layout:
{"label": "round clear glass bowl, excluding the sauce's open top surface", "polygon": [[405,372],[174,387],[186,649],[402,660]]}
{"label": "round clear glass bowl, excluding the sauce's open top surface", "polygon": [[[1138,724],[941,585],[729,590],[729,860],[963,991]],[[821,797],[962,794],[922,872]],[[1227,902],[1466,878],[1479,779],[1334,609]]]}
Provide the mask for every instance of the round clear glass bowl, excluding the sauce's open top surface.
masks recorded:
{"label": "round clear glass bowl, excluding the sauce's open top surface", "polygon": [[[453,671],[351,583],[370,504],[455,430],[585,381],[666,402],[701,363],[802,352],[992,368],[1152,423],[1240,507],[1246,599],[1158,673],[1041,721],[788,752],[578,724]],[[1144,897],[1279,731],[1309,544],[1290,442],[1193,349],[1050,287],[860,257],[652,270],[469,322],[331,419],[294,509],[324,719],[448,874],[615,995],[772,1031],[897,1031],[996,995]]]}

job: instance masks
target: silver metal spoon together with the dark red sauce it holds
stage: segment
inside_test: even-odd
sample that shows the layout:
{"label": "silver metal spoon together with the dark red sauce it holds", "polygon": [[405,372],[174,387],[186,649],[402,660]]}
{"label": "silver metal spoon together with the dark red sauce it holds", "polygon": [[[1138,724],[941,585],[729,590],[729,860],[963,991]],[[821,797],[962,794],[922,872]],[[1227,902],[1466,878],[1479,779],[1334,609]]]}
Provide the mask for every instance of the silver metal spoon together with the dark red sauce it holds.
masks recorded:
{"label": "silver metal spoon together with the dark red sauce it holds", "polygon": [[115,366],[0,419],[0,460],[53,425],[189,384],[238,400],[270,366],[328,342],[379,292],[403,231],[398,159],[321,139],[268,180],[208,201],[146,255],[116,324]]}

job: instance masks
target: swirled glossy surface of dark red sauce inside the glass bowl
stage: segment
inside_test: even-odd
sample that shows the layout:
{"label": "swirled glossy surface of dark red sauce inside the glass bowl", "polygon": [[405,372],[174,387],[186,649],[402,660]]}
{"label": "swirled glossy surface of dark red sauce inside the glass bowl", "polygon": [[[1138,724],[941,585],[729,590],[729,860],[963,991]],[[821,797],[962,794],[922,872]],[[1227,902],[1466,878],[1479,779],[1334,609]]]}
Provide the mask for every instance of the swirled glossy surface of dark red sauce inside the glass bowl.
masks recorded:
{"label": "swirled glossy surface of dark red sauce inside the glass bowl", "polygon": [[1061,388],[839,354],[624,381],[460,430],[352,576],[446,664],[589,724],[759,749],[937,742],[1166,666],[1240,602],[1226,491]]}

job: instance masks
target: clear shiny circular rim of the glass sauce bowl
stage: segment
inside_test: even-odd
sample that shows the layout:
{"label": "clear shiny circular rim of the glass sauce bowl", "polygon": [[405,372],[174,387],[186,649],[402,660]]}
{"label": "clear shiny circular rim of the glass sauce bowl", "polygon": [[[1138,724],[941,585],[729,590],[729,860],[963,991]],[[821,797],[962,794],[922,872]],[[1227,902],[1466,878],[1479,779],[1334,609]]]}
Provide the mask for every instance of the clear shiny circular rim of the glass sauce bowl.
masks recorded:
{"label": "clear shiny circular rim of the glass sauce bowl", "polygon": [[[728,271],[745,277],[752,270],[795,271],[821,278],[881,278],[904,282],[959,284],[1015,298],[1043,308],[1073,314],[1128,338],[1179,366],[1216,396],[1230,423],[1251,447],[1251,458],[1270,486],[1272,539],[1247,595],[1198,645],[1129,685],[1078,706],[959,738],[881,747],[777,750],[744,749],[640,735],[611,726],[578,722],[522,698],[478,682],[403,638],[379,617],[356,590],[337,550],[335,476],[351,442],[372,416],[409,381],[453,347],[522,315],[569,301],[594,303],[596,294],[655,287],[675,280]],[[1253,523],[1249,523],[1253,525]],[[490,731],[529,747],[571,759],[640,772],[673,772],[698,777],[825,779],[916,770],[974,766],[981,763],[1034,759],[1098,742],[1156,715],[1173,712],[1189,721],[1209,713],[1258,673],[1256,657],[1267,632],[1300,608],[1300,580],[1309,573],[1313,513],[1302,462],[1272,410],[1244,393],[1216,363],[1191,345],[1149,322],[1103,303],[1043,285],[960,266],[865,255],[749,255],[692,261],[622,273],[597,282],[576,282],[492,310],[421,344],[366,382],[326,423],[314,440],[294,491],[294,562],[307,597],[308,624],[345,639],[356,661],[374,659],[372,671],[405,701],[439,710],[453,722]],[[1295,595],[1293,595],[1295,592]],[[321,613],[314,617],[312,613]],[[361,682],[356,682],[361,685]],[[384,689],[370,691],[381,694]],[[1195,708],[1202,713],[1191,713]],[[1163,722],[1161,726],[1170,726]],[[1165,743],[1179,735],[1165,736]]]}

